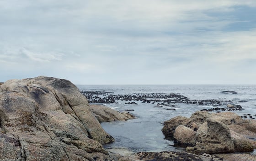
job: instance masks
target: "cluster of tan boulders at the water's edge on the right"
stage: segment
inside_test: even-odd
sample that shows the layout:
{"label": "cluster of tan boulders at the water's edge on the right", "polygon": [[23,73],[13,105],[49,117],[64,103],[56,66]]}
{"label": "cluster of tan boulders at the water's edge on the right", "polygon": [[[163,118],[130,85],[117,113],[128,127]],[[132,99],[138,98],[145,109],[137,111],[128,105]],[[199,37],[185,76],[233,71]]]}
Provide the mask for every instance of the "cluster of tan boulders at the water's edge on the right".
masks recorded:
{"label": "cluster of tan boulders at the water's edge on the right", "polygon": [[[242,130],[241,130],[242,129]],[[243,120],[232,112],[197,111],[190,118],[176,116],[165,121],[162,129],[167,139],[187,146],[195,154],[253,151],[256,121]]]}

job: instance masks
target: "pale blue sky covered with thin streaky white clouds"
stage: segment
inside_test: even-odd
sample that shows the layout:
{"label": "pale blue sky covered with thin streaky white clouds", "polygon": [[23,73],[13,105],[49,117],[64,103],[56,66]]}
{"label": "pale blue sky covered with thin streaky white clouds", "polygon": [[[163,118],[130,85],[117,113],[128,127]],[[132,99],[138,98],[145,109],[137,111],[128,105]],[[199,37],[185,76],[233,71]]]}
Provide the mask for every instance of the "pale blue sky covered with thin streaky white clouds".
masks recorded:
{"label": "pale blue sky covered with thin streaky white clouds", "polygon": [[0,0],[0,75],[256,84],[256,0]]}

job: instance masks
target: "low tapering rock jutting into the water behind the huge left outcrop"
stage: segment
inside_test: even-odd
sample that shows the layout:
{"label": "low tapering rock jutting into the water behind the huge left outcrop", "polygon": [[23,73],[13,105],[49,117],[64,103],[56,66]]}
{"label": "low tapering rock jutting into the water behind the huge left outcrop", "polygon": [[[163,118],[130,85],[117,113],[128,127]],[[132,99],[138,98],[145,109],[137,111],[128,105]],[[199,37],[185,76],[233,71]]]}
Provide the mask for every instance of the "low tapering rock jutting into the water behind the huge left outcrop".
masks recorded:
{"label": "low tapering rock jutting into the water behind the huge left outcrop", "polygon": [[99,122],[109,122],[109,121],[126,121],[128,119],[133,119],[134,116],[130,113],[123,112],[120,113],[106,106],[100,105],[90,105],[91,111]]}

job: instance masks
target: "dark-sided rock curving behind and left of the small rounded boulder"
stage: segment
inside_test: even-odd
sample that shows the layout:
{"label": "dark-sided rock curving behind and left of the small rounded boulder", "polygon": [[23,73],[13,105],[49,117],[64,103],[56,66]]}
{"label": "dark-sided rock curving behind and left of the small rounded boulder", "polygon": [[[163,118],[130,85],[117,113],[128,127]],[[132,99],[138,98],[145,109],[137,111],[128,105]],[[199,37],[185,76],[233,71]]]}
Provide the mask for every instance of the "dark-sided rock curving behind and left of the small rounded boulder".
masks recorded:
{"label": "dark-sided rock curving behind and left of the small rounded boulder", "polygon": [[162,128],[162,132],[167,139],[173,139],[173,134],[175,129],[179,125],[186,126],[193,131],[197,131],[198,126],[194,123],[190,118],[183,117],[183,116],[176,116],[168,121],[165,121],[164,127]]}

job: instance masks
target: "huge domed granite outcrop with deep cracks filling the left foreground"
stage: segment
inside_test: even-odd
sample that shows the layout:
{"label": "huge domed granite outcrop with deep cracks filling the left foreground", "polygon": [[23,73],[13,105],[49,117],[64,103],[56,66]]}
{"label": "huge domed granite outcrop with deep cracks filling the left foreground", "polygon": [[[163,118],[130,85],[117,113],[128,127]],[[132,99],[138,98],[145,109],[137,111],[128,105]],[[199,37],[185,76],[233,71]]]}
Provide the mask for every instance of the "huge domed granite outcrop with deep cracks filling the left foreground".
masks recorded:
{"label": "huge domed granite outcrop with deep cracks filling the left foreground", "polygon": [[111,160],[113,142],[70,81],[40,76],[0,86],[0,160]]}

